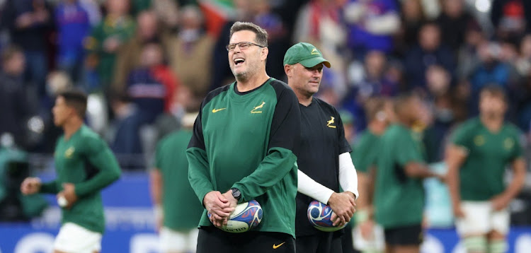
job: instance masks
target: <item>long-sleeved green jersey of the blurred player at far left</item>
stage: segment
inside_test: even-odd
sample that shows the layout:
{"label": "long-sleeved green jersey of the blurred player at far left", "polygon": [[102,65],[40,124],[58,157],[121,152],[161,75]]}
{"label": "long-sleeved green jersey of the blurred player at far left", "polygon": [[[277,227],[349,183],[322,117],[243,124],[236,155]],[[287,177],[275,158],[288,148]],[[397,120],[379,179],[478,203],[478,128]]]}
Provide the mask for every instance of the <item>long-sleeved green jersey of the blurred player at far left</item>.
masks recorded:
{"label": "long-sleeved green jersey of the blurred player at far left", "polygon": [[57,178],[42,184],[40,192],[57,194],[62,191],[62,184],[74,184],[78,199],[72,208],[62,209],[62,223],[76,223],[103,233],[105,217],[100,191],[120,177],[120,167],[110,148],[83,125],[69,139],[59,138],[54,158]]}

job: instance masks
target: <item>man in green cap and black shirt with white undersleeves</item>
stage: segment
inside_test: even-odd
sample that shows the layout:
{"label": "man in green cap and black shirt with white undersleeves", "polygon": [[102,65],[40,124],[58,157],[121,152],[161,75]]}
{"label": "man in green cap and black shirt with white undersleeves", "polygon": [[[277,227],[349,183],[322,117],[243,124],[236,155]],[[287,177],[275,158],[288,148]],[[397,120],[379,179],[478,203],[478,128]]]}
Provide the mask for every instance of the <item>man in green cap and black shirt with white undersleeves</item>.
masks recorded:
{"label": "man in green cap and black shirt with white undersleeves", "polygon": [[[323,66],[330,68],[319,49],[297,43],[287,49],[284,71],[287,84],[299,100],[301,145],[297,185],[295,234],[297,252],[342,252],[341,231],[323,232],[308,220],[307,209],[314,199],[331,206],[333,224],[341,227],[355,212],[358,178],[350,158],[341,117],[332,105],[314,98],[323,77]],[[340,187],[344,192],[340,192]]]}

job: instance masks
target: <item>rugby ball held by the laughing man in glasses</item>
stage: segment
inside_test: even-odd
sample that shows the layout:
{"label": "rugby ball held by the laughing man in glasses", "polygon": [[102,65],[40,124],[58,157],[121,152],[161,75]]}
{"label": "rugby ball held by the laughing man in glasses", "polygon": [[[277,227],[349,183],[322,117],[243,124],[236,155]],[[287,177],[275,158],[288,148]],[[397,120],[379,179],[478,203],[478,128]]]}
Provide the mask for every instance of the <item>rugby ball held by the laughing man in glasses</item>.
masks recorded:
{"label": "rugby ball held by the laughing man in glasses", "polygon": [[[229,233],[244,233],[260,224],[262,216],[262,206],[258,201],[251,200],[237,205],[229,216],[227,225],[217,228]],[[208,217],[210,218],[210,213]]]}

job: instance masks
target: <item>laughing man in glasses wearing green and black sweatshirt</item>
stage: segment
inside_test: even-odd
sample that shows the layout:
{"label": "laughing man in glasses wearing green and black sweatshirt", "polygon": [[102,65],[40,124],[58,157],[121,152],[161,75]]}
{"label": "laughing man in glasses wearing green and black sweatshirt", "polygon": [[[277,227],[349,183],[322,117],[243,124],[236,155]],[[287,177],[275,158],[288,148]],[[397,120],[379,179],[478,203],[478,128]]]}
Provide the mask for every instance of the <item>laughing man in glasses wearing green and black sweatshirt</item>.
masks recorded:
{"label": "laughing man in glasses wearing green and black sweatshirt", "polygon": [[[209,93],[195,120],[186,155],[190,185],[205,206],[198,253],[295,252],[300,111],[295,93],[265,72],[267,43],[258,25],[232,25],[227,51],[236,82]],[[263,209],[258,227],[215,228],[253,199]]]}

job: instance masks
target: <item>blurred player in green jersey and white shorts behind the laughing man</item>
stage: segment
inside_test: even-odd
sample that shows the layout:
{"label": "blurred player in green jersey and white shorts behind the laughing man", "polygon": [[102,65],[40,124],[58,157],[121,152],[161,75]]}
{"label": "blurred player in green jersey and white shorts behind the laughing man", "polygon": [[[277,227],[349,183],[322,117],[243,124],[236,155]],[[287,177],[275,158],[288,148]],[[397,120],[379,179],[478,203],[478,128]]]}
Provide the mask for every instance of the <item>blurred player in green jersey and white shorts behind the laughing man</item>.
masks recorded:
{"label": "blurred player in green jersey and white shorts behind the laughing man", "polygon": [[186,160],[186,148],[192,137],[193,122],[198,117],[200,102],[193,95],[192,98],[181,98],[187,100],[180,101],[185,107],[185,114],[181,118],[182,128],[159,141],[154,168],[150,172],[156,230],[159,231],[161,252],[164,253],[195,252],[198,244],[197,227],[203,210],[190,187]]}

